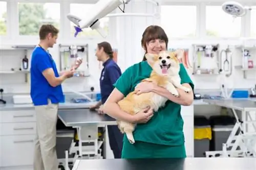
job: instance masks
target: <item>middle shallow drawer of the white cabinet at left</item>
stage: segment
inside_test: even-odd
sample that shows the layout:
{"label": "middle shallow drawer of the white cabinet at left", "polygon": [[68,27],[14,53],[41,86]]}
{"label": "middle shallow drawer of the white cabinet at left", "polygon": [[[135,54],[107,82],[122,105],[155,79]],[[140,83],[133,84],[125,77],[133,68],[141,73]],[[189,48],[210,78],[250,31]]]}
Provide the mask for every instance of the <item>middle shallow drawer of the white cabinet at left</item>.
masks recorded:
{"label": "middle shallow drawer of the white cabinet at left", "polygon": [[36,123],[1,123],[0,135],[33,135],[36,134]]}

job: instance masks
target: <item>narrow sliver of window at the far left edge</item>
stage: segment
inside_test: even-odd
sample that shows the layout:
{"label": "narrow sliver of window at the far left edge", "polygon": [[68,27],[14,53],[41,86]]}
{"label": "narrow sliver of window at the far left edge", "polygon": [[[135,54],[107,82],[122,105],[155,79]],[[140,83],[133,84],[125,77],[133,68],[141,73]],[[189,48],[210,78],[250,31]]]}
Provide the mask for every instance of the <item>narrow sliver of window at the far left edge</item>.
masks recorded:
{"label": "narrow sliver of window at the far left edge", "polygon": [[0,35],[7,34],[6,28],[7,2],[0,2]]}

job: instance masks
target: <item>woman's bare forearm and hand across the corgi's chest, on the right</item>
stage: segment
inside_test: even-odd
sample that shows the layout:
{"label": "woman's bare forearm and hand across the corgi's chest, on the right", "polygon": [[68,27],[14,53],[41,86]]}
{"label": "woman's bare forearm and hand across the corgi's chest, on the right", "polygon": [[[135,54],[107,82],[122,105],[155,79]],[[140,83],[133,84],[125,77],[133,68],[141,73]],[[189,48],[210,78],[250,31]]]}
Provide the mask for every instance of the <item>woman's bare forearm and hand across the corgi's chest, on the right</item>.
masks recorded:
{"label": "woman's bare forearm and hand across the corgi's chest, on the right", "polygon": [[183,106],[190,106],[194,101],[193,90],[188,83],[184,83],[182,84],[182,86],[190,88],[191,91],[189,93],[186,93],[184,90],[177,88],[179,92],[178,98],[174,96],[172,93],[170,93],[168,90],[166,90],[165,88],[159,87],[157,85],[153,86],[152,92],[155,92],[161,96],[164,96],[165,98],[167,98],[170,101],[173,101],[174,103],[177,103]]}

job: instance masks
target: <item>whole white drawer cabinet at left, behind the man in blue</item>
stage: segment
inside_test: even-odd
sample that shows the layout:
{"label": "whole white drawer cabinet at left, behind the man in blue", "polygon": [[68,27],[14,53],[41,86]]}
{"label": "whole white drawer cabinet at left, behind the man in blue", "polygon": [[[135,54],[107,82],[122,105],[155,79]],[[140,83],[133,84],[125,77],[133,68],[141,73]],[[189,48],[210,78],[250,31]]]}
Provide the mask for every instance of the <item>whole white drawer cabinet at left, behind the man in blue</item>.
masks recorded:
{"label": "whole white drawer cabinet at left, behind the man in blue", "polygon": [[0,169],[32,170],[34,110],[0,111]]}

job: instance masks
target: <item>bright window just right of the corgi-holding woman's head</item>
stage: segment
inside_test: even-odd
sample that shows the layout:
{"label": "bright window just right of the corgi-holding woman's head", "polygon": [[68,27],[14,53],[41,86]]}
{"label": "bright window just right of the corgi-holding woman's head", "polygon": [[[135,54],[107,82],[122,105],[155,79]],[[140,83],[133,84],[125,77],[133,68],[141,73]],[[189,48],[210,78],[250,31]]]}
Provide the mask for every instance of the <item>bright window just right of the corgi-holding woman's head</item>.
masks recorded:
{"label": "bright window just right of the corgi-holding woman's head", "polygon": [[196,6],[162,6],[161,26],[168,37],[195,37]]}

